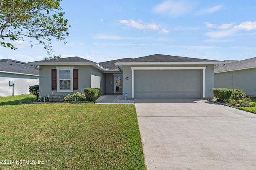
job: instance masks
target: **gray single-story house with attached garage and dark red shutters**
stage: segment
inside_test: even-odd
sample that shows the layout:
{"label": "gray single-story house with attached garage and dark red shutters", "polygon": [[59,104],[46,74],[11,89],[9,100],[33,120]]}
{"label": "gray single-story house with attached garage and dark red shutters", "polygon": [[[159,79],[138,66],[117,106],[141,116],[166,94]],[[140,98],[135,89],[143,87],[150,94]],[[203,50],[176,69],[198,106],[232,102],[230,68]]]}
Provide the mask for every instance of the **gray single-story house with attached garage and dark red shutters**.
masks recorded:
{"label": "gray single-story house with attached garage and dark red shutters", "polygon": [[224,63],[156,54],[102,63],[69,57],[28,64],[40,66],[40,97],[92,87],[135,99],[200,99],[212,97],[214,65]]}

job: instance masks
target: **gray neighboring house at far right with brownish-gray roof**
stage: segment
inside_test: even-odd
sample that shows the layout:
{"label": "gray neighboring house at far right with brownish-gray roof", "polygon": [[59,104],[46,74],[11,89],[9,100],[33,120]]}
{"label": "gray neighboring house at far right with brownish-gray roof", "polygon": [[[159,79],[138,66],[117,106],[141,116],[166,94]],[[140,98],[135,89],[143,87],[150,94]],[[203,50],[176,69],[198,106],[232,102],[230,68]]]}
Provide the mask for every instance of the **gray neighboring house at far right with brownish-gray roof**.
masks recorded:
{"label": "gray neighboring house at far right with brownish-gray roof", "polygon": [[256,57],[216,67],[214,87],[241,89],[247,96],[256,96]]}

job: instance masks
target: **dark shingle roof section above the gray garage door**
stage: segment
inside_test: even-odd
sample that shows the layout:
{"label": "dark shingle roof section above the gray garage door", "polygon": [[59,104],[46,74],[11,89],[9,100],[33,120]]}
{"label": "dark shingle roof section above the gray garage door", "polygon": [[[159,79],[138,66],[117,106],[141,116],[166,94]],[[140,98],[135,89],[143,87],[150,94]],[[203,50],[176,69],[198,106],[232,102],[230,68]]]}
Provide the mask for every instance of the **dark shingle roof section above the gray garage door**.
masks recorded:
{"label": "dark shingle roof section above the gray garage door", "polygon": [[155,54],[155,55],[149,55],[145,57],[139,57],[136,59],[130,59],[125,62],[202,62],[202,61],[216,61],[216,60],[195,59],[195,58],[188,58],[188,57]]}

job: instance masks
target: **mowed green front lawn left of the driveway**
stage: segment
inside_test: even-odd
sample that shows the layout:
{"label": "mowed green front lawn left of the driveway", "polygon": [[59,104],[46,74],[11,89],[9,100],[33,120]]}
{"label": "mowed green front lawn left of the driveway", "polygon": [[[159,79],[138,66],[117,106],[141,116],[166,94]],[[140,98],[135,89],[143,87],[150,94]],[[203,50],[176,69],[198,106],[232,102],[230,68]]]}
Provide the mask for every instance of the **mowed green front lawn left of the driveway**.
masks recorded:
{"label": "mowed green front lawn left of the driveway", "polygon": [[0,160],[35,161],[2,170],[146,169],[134,105],[0,106],[0,147]]}

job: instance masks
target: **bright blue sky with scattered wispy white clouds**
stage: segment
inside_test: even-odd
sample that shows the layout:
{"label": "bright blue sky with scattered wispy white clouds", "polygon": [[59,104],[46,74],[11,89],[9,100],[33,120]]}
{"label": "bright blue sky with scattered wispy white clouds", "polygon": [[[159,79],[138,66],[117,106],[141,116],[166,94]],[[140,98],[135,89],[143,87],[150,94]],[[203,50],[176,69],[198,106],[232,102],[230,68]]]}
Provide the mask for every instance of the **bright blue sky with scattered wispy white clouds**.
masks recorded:
{"label": "bright blue sky with scattered wispy white clouds", "polygon": [[[95,62],[164,54],[211,60],[256,57],[253,0],[63,0],[71,28],[51,42],[54,54]],[[13,41],[0,59],[32,62],[48,56],[42,45]]]}

